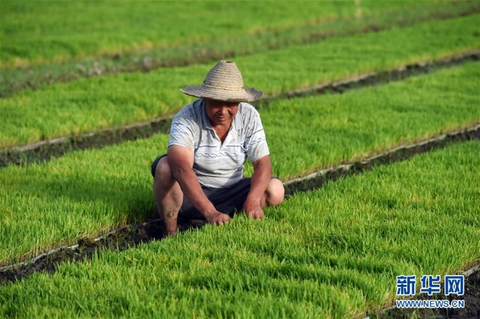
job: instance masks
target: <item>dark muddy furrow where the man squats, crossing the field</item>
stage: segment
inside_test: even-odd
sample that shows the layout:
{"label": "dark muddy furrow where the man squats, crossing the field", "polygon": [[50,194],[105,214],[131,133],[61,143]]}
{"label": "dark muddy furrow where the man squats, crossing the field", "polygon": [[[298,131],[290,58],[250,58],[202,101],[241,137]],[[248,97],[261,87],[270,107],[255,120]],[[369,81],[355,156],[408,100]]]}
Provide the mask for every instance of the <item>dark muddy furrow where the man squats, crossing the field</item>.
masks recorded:
{"label": "dark muddy furrow where the man squats, crossing the field", "polygon": [[[374,155],[373,157],[361,159],[357,162],[349,162],[348,164],[333,166],[319,170],[311,175],[289,180],[283,183],[285,186],[285,199],[288,199],[289,196],[296,192],[316,190],[322,188],[325,183],[332,183],[337,179],[361,174],[376,166],[405,161],[422,153],[427,153],[435,149],[442,149],[455,143],[470,140],[480,140],[480,124],[470,129],[442,134],[435,138],[423,140],[422,142],[415,144],[399,146],[395,149],[379,155]],[[206,222],[204,220],[185,220],[184,218],[179,218],[178,220],[178,227],[181,233],[199,229],[205,224]],[[142,223],[128,224],[105,233],[95,239],[81,238],[77,244],[71,246],[63,245],[40,255],[36,255],[31,259],[16,264],[10,264],[8,266],[1,266],[0,285],[10,281],[25,279],[34,272],[47,271],[53,273],[58,264],[66,263],[68,261],[91,259],[93,255],[104,249],[123,251],[141,243],[149,242],[151,240],[159,240],[164,237],[163,222],[160,218],[154,217],[149,218],[149,220]],[[480,265],[478,265],[477,268],[480,270]],[[468,274],[475,271],[474,269],[475,267],[468,270],[466,276],[470,276]],[[478,279],[480,279],[480,272],[478,275]],[[473,276],[466,280],[466,291],[468,291],[468,289],[472,289],[472,292],[477,291],[475,287],[469,287],[469,285],[480,285],[480,280],[475,281],[475,278],[477,277]],[[480,291],[478,293],[480,294]],[[477,297],[471,297],[477,300]],[[469,297],[466,296],[466,298]],[[475,311],[475,309],[467,307],[466,311]]]}

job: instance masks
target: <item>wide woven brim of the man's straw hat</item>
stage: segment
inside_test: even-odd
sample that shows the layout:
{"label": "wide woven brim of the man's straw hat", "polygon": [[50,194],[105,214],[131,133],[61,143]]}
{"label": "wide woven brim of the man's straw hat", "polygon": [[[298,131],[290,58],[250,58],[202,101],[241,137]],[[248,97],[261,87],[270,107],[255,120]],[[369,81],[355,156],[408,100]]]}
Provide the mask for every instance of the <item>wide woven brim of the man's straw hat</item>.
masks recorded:
{"label": "wide woven brim of the man's straw hat", "polygon": [[252,102],[263,97],[263,92],[254,88],[244,88],[239,91],[220,90],[218,88],[207,88],[206,86],[187,86],[180,89],[180,92],[192,97],[213,99],[230,102]]}

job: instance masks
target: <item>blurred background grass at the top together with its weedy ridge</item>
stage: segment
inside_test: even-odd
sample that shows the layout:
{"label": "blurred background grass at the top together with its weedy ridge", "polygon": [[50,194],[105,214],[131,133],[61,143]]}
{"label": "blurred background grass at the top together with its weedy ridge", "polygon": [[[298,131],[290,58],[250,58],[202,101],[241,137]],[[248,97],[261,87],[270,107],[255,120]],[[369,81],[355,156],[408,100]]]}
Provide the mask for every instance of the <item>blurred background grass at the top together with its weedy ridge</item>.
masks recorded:
{"label": "blurred background grass at the top together with its weedy ridge", "polygon": [[[37,3],[8,1],[5,4],[3,1],[2,8],[6,9],[1,16],[0,32],[3,33],[0,35],[1,39],[8,40],[3,42],[1,65],[23,67],[2,68],[0,97],[11,96],[23,88],[38,88],[78,77],[213,62],[480,10],[476,1],[362,0],[359,8],[355,1],[309,1],[301,5],[298,1],[283,1],[269,10],[265,7],[272,5],[265,1],[230,1],[228,5],[197,1],[188,4],[191,5],[157,1],[141,7],[136,5],[135,12],[139,14],[152,9],[143,14],[143,21],[139,24],[130,21],[132,14],[125,11],[134,3],[126,1],[115,6],[104,2],[63,3],[62,7],[81,9],[75,12],[75,20],[66,18],[63,8],[58,10],[56,3],[43,1],[42,8],[34,8]],[[227,14],[215,14],[211,10],[214,5],[220,7],[217,12]],[[181,10],[177,10],[178,7]],[[101,13],[95,10],[97,8]],[[359,9],[361,16],[357,16]],[[152,19],[152,13],[158,10],[162,18]],[[232,22],[230,10],[242,16],[242,23]],[[45,15],[38,16],[37,12],[45,12]],[[199,12],[204,19],[190,17]],[[265,12],[268,12],[268,18],[265,18]],[[35,14],[33,18],[32,14]],[[98,14],[101,18],[97,17]],[[43,16],[48,18],[43,19]],[[210,27],[211,23],[204,23],[209,16],[215,16],[215,28]],[[78,27],[81,25],[79,20],[84,21],[81,27]],[[86,23],[89,20],[94,22]],[[58,24],[63,27],[56,27]],[[120,28],[121,33],[112,32],[113,26]],[[188,27],[190,29],[185,31]],[[36,32],[40,31],[42,35],[38,36]],[[93,41],[95,37],[99,39]],[[139,39],[145,37],[149,40],[139,43]],[[55,63],[60,60],[61,63]]]}

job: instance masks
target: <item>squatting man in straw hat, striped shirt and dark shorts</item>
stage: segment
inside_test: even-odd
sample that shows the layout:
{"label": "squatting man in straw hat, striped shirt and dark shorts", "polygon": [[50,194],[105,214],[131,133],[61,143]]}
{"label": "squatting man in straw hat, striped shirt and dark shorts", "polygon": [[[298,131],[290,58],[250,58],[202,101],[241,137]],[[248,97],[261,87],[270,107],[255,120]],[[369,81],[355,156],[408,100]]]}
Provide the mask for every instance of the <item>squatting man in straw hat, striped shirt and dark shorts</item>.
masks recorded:
{"label": "squatting man in straw hat, striped shirt and dark shorts", "polygon": [[[154,196],[167,235],[177,233],[177,218],[223,224],[237,211],[263,218],[262,207],[280,205],[285,189],[272,179],[272,164],[259,113],[246,102],[261,91],[243,88],[234,62],[220,61],[202,86],[180,90],[198,97],[178,112],[166,155],[152,164]],[[243,177],[248,157],[251,178]]]}

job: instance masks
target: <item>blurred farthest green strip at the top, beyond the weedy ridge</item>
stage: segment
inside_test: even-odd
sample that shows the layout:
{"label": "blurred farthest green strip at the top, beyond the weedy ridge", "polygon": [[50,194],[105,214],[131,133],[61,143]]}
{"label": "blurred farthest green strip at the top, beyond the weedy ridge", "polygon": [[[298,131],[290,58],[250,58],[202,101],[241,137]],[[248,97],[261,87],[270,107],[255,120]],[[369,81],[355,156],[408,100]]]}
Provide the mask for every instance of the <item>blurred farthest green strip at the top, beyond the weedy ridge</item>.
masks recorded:
{"label": "blurred farthest green strip at the top, beyond the weedy ridge", "polygon": [[[469,8],[472,2],[361,1],[362,18],[393,12]],[[355,22],[354,1],[11,1],[1,3],[1,66],[64,62],[72,58],[165,49],[180,44],[331,21]],[[240,19],[235,17],[241,17]],[[385,18],[384,18],[385,19]],[[248,43],[248,41],[245,41]],[[250,45],[250,44],[246,44]]]}

